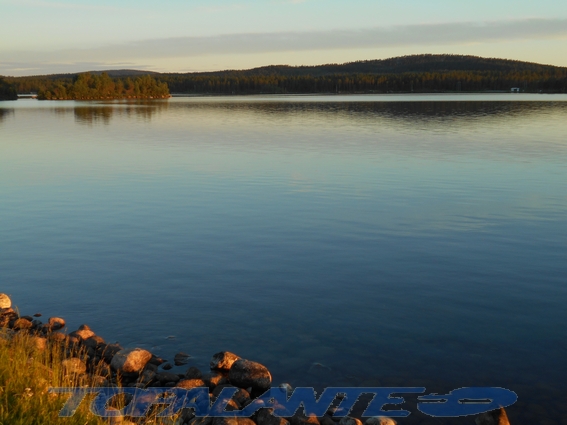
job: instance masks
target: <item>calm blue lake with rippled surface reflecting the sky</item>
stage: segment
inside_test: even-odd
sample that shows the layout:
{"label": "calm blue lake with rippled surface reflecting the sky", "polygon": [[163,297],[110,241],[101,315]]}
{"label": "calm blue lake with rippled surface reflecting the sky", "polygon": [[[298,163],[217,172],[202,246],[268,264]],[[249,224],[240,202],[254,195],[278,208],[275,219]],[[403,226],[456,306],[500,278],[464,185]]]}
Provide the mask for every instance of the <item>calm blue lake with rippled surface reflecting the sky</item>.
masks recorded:
{"label": "calm blue lake with rippled surface reflecting the sky", "polygon": [[565,424],[566,135],[565,95],[0,102],[0,292],[203,370]]}

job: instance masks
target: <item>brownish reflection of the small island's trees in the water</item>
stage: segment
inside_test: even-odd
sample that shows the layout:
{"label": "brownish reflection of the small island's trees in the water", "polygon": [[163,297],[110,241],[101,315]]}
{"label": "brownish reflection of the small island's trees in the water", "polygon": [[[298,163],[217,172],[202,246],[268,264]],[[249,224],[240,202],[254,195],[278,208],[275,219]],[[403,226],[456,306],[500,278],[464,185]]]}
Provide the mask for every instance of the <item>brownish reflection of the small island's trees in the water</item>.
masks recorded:
{"label": "brownish reflection of the small island's trees in the water", "polygon": [[167,102],[137,102],[135,104],[94,104],[74,108],[75,121],[80,124],[109,124],[113,116],[150,121],[152,116],[168,106]]}

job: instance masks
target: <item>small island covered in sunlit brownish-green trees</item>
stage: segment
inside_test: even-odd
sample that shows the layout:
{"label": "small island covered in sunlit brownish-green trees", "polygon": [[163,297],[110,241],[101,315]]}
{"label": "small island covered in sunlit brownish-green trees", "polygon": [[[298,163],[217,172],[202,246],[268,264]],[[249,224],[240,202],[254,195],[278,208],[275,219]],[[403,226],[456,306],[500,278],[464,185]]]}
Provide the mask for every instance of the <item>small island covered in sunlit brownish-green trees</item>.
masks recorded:
{"label": "small island covered in sunlit brownish-green trees", "polygon": [[165,99],[170,97],[167,83],[150,75],[136,78],[111,78],[89,72],[73,79],[52,80],[37,93],[39,100],[101,100],[101,99]]}

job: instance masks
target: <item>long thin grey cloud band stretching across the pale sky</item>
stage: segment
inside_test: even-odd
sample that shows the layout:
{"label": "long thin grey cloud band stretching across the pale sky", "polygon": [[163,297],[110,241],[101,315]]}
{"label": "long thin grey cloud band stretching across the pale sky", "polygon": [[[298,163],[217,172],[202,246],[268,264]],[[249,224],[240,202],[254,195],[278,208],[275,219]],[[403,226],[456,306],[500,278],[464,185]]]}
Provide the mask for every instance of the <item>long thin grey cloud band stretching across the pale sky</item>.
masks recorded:
{"label": "long thin grey cloud band stretching across the pale sky", "polygon": [[[116,43],[98,48],[51,52],[2,53],[0,73],[10,73],[8,62],[23,68],[46,69],[54,64],[150,62],[162,58],[224,54],[259,54],[309,50],[387,48],[401,46],[464,45],[567,37],[567,19],[525,19],[493,22],[457,22],[329,30],[224,34]],[[12,68],[13,69],[13,68]],[[67,71],[69,72],[69,71]],[[29,75],[29,74],[28,74]]]}

